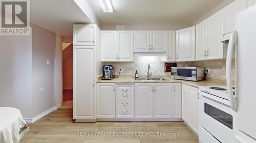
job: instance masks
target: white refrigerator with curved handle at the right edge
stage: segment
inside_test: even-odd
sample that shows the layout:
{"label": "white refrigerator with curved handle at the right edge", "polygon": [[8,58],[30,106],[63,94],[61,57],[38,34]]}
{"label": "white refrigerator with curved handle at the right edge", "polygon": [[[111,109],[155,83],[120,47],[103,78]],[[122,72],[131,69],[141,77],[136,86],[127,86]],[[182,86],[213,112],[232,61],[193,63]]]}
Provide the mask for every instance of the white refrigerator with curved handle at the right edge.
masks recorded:
{"label": "white refrigerator with curved handle at the right edge", "polygon": [[[236,95],[232,94],[231,59],[236,49]],[[234,138],[240,143],[256,142],[256,5],[237,15],[227,52],[227,90],[235,112]]]}

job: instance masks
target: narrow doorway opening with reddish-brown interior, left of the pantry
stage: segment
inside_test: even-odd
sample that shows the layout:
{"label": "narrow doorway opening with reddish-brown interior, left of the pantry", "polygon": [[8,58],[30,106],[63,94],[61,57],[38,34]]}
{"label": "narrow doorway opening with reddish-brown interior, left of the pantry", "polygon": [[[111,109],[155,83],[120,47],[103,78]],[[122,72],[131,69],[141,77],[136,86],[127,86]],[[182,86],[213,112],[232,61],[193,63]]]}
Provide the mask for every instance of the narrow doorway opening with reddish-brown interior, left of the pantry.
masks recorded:
{"label": "narrow doorway opening with reddish-brown interior, left of the pantry", "polygon": [[62,106],[73,109],[73,44],[62,42]]}

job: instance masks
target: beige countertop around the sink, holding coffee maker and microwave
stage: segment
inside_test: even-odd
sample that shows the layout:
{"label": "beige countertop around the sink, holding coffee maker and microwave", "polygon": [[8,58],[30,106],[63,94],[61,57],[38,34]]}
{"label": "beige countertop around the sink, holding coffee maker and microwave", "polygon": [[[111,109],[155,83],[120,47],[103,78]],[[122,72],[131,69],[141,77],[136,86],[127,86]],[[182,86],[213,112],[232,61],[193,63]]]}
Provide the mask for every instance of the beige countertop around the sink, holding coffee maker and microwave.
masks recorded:
{"label": "beige countertop around the sink, holding coffee maker and microwave", "polygon": [[[160,76],[152,76],[152,77],[160,77]],[[200,86],[225,86],[226,80],[220,80],[220,79],[207,79],[207,80],[201,80],[201,81],[186,81],[186,80],[177,80],[172,79],[169,76],[161,76],[166,80],[135,80],[133,76],[127,76],[127,77],[117,77],[113,80],[98,80],[98,83],[184,83],[187,85],[190,85],[195,88],[199,88]],[[140,76],[139,78],[144,78],[143,76]]]}

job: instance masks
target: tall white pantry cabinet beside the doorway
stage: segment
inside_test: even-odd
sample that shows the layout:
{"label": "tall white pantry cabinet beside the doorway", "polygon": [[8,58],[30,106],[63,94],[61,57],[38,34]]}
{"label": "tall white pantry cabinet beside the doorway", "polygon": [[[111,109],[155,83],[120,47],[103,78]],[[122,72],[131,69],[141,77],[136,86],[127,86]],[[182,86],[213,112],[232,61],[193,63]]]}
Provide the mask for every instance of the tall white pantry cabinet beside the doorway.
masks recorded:
{"label": "tall white pantry cabinet beside the doorway", "polygon": [[96,121],[96,78],[102,75],[100,29],[73,25],[73,119]]}

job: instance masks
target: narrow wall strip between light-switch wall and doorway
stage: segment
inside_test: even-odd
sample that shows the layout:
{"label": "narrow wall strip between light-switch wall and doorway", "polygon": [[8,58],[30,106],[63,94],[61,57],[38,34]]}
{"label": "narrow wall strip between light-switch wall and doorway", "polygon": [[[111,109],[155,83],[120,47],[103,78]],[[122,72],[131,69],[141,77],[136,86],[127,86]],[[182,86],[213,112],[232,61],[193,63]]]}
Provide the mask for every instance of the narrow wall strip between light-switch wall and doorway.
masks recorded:
{"label": "narrow wall strip between light-switch wall and doorway", "polygon": [[57,106],[62,103],[62,41],[58,34],[55,35],[54,55],[54,97]]}

